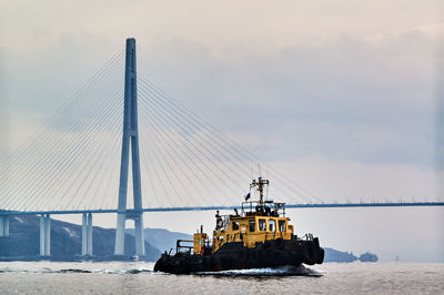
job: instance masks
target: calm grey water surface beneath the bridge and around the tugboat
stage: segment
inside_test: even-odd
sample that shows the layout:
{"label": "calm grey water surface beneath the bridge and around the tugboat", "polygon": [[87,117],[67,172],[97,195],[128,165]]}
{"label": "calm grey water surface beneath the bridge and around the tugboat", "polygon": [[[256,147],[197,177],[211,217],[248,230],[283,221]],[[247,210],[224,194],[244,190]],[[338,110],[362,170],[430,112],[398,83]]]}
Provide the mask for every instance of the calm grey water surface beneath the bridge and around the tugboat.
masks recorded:
{"label": "calm grey water surface beneath the bridge and around the tugboat", "polygon": [[147,263],[0,263],[0,294],[444,294],[444,264],[335,264],[204,275]]}

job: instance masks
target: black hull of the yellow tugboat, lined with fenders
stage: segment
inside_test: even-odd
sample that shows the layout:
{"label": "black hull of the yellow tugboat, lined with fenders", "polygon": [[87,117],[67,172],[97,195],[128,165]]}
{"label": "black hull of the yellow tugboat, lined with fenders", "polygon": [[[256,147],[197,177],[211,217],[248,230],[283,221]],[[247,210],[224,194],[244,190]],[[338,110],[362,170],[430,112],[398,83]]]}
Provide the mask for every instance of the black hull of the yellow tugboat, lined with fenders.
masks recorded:
{"label": "black hull of the yellow tugboat, lined with fenders", "polygon": [[226,243],[216,253],[209,255],[162,254],[154,265],[154,272],[190,274],[278,267],[284,265],[314,265],[324,261],[324,250],[317,237],[313,241],[268,241],[255,248],[245,248],[240,243]]}

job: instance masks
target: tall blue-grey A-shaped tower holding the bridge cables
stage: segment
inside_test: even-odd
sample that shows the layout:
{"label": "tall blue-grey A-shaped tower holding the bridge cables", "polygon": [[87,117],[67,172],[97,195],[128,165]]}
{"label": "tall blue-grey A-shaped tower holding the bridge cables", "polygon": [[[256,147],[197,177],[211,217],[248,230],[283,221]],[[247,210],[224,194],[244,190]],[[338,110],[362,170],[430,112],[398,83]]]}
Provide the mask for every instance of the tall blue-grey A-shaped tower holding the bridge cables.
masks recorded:
{"label": "tall blue-grey A-shaped tower holding the bridge cables", "polygon": [[[128,170],[131,145],[131,166],[134,208],[127,210]],[[115,230],[115,255],[124,254],[125,221],[134,220],[135,254],[144,255],[142,190],[140,185],[139,131],[138,131],[138,85],[135,69],[135,39],[127,39],[123,138],[120,165],[118,222]]]}

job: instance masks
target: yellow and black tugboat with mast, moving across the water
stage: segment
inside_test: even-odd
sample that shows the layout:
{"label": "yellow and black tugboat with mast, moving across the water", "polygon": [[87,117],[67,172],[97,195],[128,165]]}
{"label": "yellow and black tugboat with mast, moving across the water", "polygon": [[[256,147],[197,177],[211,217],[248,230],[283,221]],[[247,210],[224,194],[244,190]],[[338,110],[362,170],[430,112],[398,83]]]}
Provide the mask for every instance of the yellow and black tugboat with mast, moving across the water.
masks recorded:
{"label": "yellow and black tugboat with mast, moving across the water", "polygon": [[241,212],[232,215],[215,214],[213,238],[203,232],[193,241],[178,240],[175,253],[161,255],[154,272],[192,274],[226,269],[246,269],[301,264],[322,264],[324,250],[312,234],[299,237],[290,218],[285,216],[285,203],[264,201],[264,189],[270,182],[253,180],[251,189],[259,191],[259,201],[242,203]]}

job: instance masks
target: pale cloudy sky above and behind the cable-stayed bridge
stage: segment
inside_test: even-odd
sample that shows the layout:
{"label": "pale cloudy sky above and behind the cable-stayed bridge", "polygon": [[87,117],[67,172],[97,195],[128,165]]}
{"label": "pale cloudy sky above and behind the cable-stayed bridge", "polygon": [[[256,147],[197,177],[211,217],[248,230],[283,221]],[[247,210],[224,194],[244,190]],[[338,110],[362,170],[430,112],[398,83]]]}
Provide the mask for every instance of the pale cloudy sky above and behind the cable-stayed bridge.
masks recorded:
{"label": "pale cloudy sky above and behind the cable-stayed bridge", "polygon": [[[322,200],[442,200],[443,9],[401,0],[2,1],[0,160],[134,37],[140,73]],[[444,261],[442,208],[291,212],[296,232],[327,246]],[[145,223],[213,226],[210,212],[163,214]]]}

